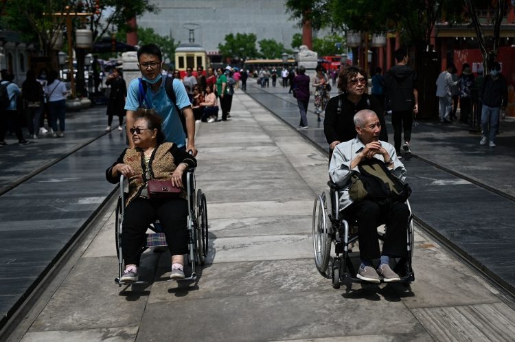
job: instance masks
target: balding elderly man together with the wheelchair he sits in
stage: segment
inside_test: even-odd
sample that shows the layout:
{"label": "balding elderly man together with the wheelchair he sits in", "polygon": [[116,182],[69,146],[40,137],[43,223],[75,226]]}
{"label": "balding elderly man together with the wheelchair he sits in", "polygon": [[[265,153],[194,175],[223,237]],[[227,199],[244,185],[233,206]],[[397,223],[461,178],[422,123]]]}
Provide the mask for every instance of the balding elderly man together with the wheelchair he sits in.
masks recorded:
{"label": "balding elderly man together with the wheelchair he sits in", "polygon": [[[400,201],[378,201],[371,196],[361,196],[356,198],[356,191],[352,189],[354,183],[356,187],[362,180],[361,176],[365,173],[363,168],[365,164],[371,165],[367,170],[376,172],[379,164],[382,163],[382,174],[391,173],[396,179],[389,176],[396,185],[404,186],[402,189],[409,190],[409,187],[402,183],[406,176],[406,169],[399,161],[395,148],[385,141],[379,141],[379,133],[381,130],[380,120],[376,113],[370,110],[363,110],[354,116],[354,126],[356,127],[357,137],[350,141],[338,144],[334,148],[332,159],[330,161],[329,175],[331,193],[325,192],[319,197],[318,203],[323,206],[323,210],[327,214],[323,215],[323,224],[332,223],[332,227],[325,229],[325,238],[334,240],[336,258],[333,259],[332,277],[333,286],[339,287],[340,272],[352,270],[350,277],[356,281],[380,283],[383,282],[399,282],[401,280],[412,280],[413,272],[411,271],[411,211],[409,204],[406,202],[407,196]],[[359,177],[358,177],[359,174]],[[379,174],[379,173],[378,173]],[[387,183],[393,181],[387,179]],[[400,179],[400,181],[398,181]],[[365,182],[365,181],[363,181]],[[411,190],[409,190],[411,192]],[[332,209],[336,207],[336,209]],[[314,212],[317,209],[315,202]],[[343,219],[341,219],[343,218]],[[315,221],[315,218],[314,218]],[[328,222],[326,222],[328,221]],[[350,227],[348,223],[356,223],[358,227],[357,237],[350,236]],[[382,236],[378,235],[378,227],[383,223],[387,224],[386,233]],[[345,228],[345,229],[344,229]],[[320,238],[315,236],[314,240]],[[317,231],[320,229],[317,228]],[[383,240],[382,252],[380,252],[380,244],[378,238]],[[358,271],[354,271],[354,267],[348,257],[349,246],[354,240],[358,240],[359,254],[361,264]],[[314,241],[315,242],[315,241]],[[330,241],[324,240],[322,243],[321,253],[328,260],[330,253]],[[314,243],[315,262],[319,271],[323,273],[327,268],[327,262],[317,261],[317,248],[319,244]],[[343,258],[338,254],[343,253]],[[409,275],[403,274],[401,277],[398,273],[391,269],[390,259],[408,260]],[[378,260],[378,264],[374,266],[374,260]],[[342,267],[341,264],[344,266]],[[325,269],[324,269],[325,268]]]}

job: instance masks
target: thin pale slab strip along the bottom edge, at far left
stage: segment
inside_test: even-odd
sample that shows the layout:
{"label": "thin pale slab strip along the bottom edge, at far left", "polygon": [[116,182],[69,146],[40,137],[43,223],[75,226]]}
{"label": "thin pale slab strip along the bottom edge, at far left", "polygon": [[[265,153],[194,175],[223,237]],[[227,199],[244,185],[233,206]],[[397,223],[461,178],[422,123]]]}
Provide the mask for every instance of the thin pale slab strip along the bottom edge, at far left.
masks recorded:
{"label": "thin pale slab strip along the bottom edge, at far left", "polygon": [[126,342],[136,341],[138,326],[113,327],[87,330],[58,330],[45,332],[29,332],[23,336],[21,342],[47,342],[47,341],[109,341]]}

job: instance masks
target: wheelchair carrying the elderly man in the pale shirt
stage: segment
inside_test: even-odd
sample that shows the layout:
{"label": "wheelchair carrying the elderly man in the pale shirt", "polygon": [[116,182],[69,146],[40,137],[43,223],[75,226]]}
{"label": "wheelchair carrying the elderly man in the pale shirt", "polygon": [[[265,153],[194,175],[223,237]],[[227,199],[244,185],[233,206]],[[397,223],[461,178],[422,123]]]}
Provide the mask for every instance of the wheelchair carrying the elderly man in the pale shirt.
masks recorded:
{"label": "wheelchair carrying the elderly man in the pale shirt", "polygon": [[[339,187],[332,181],[328,182],[330,190],[325,190],[314,200],[312,216],[312,238],[314,251],[314,264],[321,275],[332,279],[332,287],[340,288],[346,284],[347,290],[352,283],[371,284],[356,277],[361,260],[351,258],[358,253],[352,253],[352,248],[358,240],[358,227],[356,221],[341,217],[339,209]],[[400,282],[410,284],[415,281],[415,273],[411,267],[413,258],[413,214],[409,202],[409,220],[407,229],[407,258],[391,260],[395,266],[393,271],[400,275]],[[388,229],[388,227],[385,227]],[[384,241],[384,233],[378,231],[378,238]],[[334,245],[334,246],[333,246]],[[334,251],[334,255],[331,252]],[[356,264],[356,259],[358,263]],[[354,262],[353,262],[354,261]]]}

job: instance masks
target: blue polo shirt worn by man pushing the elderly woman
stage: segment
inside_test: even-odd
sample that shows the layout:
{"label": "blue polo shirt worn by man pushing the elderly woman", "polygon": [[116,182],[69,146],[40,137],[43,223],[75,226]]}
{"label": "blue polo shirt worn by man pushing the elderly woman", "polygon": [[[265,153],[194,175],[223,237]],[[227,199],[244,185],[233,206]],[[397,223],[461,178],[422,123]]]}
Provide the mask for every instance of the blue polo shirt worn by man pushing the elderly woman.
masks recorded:
{"label": "blue polo shirt worn by man pushing the elderly woman", "polygon": [[[125,102],[126,111],[136,111],[140,107],[154,109],[161,119],[163,119],[163,133],[165,133],[166,141],[175,143],[178,147],[186,146],[186,134],[181,124],[182,113],[177,113],[176,107],[166,95],[165,90],[165,76],[161,81],[159,90],[155,93],[152,91],[150,84],[147,87],[146,100],[144,104],[139,104],[139,79],[135,78],[130,81],[127,90],[127,100]],[[145,81],[141,81],[145,82]],[[183,109],[187,106],[191,106],[190,98],[187,97],[186,89],[184,84],[174,79],[172,83],[175,92],[176,104],[179,109]]]}

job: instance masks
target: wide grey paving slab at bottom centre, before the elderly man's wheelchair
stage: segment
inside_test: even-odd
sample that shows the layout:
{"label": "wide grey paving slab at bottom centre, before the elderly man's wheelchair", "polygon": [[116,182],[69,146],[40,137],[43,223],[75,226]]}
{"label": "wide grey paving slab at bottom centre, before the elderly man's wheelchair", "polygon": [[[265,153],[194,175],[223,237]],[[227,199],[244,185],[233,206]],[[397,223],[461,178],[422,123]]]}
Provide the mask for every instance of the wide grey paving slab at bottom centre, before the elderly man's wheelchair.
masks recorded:
{"label": "wide grey paving slab at bottom centre, before the elderly man's wheelchair", "polygon": [[[328,315],[328,310],[337,314]],[[181,315],[176,315],[181,312]],[[389,315],[385,315],[388,312]],[[346,299],[341,291],[275,293],[214,297],[148,304],[138,341],[163,341],[162,321],[201,326],[192,334],[174,330],[178,341],[269,341],[320,337],[425,334],[422,325],[400,301]],[[381,324],[377,322],[381,321]],[[151,337],[151,339],[150,339]]]}

